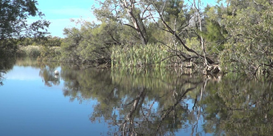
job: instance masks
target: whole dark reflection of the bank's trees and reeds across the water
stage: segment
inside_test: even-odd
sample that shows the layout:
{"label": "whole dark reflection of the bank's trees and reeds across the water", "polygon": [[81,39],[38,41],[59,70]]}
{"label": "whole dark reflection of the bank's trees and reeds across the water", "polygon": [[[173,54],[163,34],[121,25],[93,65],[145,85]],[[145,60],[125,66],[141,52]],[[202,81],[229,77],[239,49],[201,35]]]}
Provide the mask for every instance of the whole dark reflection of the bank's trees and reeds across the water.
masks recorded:
{"label": "whole dark reflection of the bank's trees and reeds across the water", "polygon": [[[18,60],[17,60],[18,61]],[[24,63],[21,62],[23,65]],[[92,123],[106,123],[107,135],[271,135],[271,80],[237,74],[204,76],[174,69],[94,69],[41,64],[46,86],[82,103],[96,100]],[[190,74],[194,73],[194,74]]]}

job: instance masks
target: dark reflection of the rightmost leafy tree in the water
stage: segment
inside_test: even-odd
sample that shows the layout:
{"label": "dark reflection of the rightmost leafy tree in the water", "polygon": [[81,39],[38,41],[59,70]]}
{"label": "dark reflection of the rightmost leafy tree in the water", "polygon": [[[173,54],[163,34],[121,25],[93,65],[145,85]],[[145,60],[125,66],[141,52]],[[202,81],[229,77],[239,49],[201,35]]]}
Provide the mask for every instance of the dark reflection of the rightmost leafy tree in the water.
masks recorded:
{"label": "dark reflection of the rightmost leafy tree in the water", "polygon": [[206,119],[210,120],[205,128],[215,124],[211,128],[215,133],[223,130],[226,135],[271,135],[271,84],[271,80],[247,79],[240,75],[227,75],[220,83],[212,82],[210,88],[217,94],[204,102]]}

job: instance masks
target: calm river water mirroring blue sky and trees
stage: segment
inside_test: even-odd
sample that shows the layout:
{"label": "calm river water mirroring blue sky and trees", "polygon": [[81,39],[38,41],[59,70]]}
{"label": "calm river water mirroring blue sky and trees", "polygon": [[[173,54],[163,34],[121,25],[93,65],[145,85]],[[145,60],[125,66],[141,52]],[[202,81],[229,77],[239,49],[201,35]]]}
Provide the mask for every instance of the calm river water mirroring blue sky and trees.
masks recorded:
{"label": "calm river water mirroring blue sky and trees", "polygon": [[35,59],[10,65],[0,86],[0,136],[273,134],[268,78]]}

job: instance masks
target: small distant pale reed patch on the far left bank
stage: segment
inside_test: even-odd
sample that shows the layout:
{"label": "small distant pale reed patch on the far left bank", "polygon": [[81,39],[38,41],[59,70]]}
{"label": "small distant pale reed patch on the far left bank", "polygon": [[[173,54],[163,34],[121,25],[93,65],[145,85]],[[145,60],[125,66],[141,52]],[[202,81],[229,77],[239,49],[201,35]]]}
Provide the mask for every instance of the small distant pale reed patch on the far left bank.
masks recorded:
{"label": "small distant pale reed patch on the far left bank", "polygon": [[16,51],[16,56],[27,56],[27,57],[38,57],[41,55],[41,47],[40,46],[23,46],[19,47]]}

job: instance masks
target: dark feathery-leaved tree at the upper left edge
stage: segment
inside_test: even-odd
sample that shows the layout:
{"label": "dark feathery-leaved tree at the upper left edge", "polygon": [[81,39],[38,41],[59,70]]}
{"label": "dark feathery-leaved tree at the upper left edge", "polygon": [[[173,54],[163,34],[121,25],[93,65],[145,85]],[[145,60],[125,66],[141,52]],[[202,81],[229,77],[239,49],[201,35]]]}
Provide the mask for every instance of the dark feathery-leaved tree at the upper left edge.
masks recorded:
{"label": "dark feathery-leaved tree at the upper left edge", "polygon": [[[1,0],[0,2],[0,47],[5,49],[14,45],[15,39],[23,37],[42,37],[48,34],[46,28],[49,21],[42,19],[41,11],[36,7],[35,0]],[[27,22],[29,16],[39,16],[41,20],[31,24]]]}

